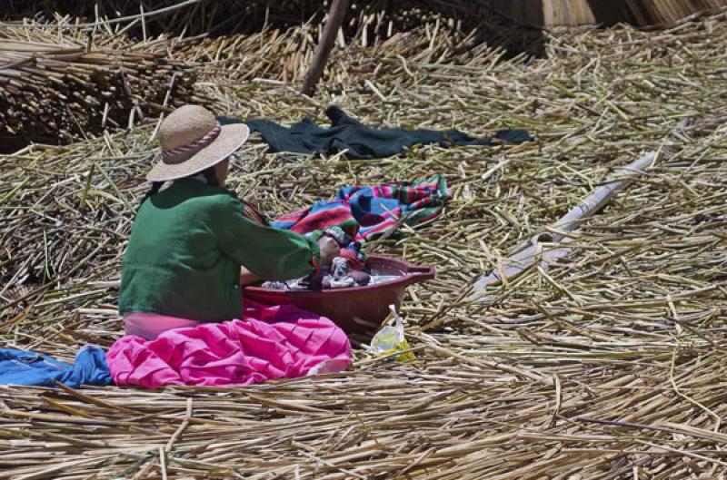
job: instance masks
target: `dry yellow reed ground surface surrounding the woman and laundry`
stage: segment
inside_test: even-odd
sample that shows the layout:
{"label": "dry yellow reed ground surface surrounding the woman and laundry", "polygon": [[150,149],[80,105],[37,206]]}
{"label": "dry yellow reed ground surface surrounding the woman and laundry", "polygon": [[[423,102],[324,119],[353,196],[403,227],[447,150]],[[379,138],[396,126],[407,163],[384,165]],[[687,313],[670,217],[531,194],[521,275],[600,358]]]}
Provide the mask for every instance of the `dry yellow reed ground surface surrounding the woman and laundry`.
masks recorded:
{"label": "dry yellow reed ground surface surrounding the woman and laundry", "polygon": [[[443,48],[434,26],[424,51]],[[439,269],[403,305],[418,360],[357,352],[344,375],[245,388],[4,387],[0,478],[722,478],[725,15],[558,32],[542,60],[482,48],[444,63],[396,45],[336,54],[314,100],[231,72],[199,88],[221,113],[285,122],[335,102],[374,124],[538,135],[364,162],[264,155],[254,138],[234,163],[231,187],[273,214],[349,182],[451,179],[441,218],[373,249]],[[115,285],[153,131],[2,159],[8,346],[71,359],[122,334]],[[560,265],[462,300],[610,172],[659,149]]]}

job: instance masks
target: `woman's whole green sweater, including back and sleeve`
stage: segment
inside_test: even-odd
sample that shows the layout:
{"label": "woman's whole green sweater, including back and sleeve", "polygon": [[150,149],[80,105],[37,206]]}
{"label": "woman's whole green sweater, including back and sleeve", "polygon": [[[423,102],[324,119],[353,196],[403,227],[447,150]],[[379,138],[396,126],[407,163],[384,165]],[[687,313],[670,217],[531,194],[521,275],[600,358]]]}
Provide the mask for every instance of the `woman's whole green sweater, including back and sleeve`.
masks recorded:
{"label": "woman's whole green sweater, including back and sleeve", "polygon": [[240,266],[262,279],[315,270],[314,240],[261,225],[244,211],[234,193],[192,179],[145,200],[124,253],[119,313],[241,318]]}

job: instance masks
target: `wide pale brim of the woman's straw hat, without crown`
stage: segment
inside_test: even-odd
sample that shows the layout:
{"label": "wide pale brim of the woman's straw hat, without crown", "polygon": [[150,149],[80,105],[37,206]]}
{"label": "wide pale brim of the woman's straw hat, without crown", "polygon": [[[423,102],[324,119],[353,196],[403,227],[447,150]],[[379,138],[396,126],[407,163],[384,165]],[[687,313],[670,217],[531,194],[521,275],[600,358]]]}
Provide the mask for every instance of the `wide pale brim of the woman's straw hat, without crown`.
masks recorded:
{"label": "wide pale brim of the woman's straw hat, without crown", "polygon": [[156,164],[146,175],[147,181],[170,181],[178,180],[200,171],[204,171],[209,167],[223,162],[224,159],[234,153],[235,150],[243,146],[250,136],[250,128],[244,123],[233,123],[223,125],[220,134],[209,145],[199,152],[194,153],[185,162],[181,163],[164,163],[162,162],[162,153],[156,154],[154,161]]}

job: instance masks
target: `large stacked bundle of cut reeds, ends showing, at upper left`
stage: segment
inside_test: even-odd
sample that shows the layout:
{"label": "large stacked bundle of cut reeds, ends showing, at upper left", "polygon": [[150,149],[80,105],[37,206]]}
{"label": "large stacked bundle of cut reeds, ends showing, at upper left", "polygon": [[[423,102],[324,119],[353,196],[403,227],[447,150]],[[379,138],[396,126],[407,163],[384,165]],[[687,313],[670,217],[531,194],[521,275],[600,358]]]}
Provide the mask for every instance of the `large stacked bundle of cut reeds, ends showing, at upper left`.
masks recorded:
{"label": "large stacked bundle of cut reeds, ends showing, at upper left", "polygon": [[72,142],[193,98],[194,73],[161,54],[0,40],[0,127]]}

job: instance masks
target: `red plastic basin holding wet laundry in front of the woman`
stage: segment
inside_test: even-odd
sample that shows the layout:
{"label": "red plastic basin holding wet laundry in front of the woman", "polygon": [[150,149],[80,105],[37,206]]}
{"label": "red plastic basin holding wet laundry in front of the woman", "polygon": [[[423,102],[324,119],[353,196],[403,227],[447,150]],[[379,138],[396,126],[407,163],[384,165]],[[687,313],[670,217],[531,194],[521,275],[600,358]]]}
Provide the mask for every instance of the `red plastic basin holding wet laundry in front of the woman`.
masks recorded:
{"label": "red plastic basin holding wet laundry in front of the woman", "polygon": [[406,287],[433,279],[433,267],[419,267],[408,261],[370,255],[366,262],[373,271],[383,275],[398,275],[398,279],[353,287],[351,289],[284,291],[245,287],[244,299],[268,305],[294,305],[331,318],[336,325],[351,334],[372,336],[389,315],[389,305],[401,305]]}

